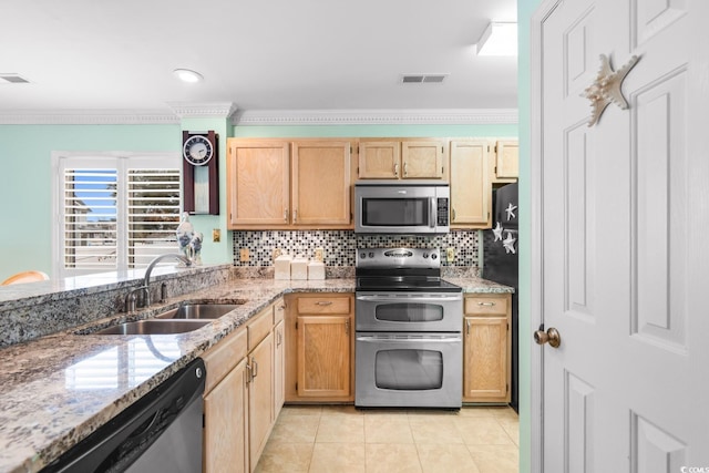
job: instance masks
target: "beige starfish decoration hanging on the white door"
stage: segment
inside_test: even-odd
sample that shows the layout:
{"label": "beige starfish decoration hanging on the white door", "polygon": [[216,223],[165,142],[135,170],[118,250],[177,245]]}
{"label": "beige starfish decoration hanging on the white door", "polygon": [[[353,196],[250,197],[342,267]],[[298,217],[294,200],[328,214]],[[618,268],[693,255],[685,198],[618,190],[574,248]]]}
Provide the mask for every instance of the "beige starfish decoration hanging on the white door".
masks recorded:
{"label": "beige starfish decoration hanging on the white door", "polygon": [[626,102],[623,96],[623,92],[620,91],[620,85],[623,84],[623,80],[630,69],[638,62],[640,58],[634,55],[626,62],[623,68],[614,71],[610,69],[610,61],[608,56],[605,54],[600,54],[600,69],[598,70],[598,75],[593,84],[590,84],[580,96],[584,96],[590,101],[590,106],[593,109],[590,119],[588,120],[588,126],[593,126],[600,119],[600,114],[609,103],[615,103],[621,110],[626,110],[628,107],[628,102]]}

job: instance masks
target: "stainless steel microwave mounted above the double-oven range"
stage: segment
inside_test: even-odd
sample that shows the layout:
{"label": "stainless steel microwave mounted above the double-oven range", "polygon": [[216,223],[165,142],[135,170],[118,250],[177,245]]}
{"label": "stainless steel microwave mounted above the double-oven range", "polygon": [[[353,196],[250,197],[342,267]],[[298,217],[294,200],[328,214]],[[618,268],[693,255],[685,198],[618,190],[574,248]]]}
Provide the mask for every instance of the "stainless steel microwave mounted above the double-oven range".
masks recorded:
{"label": "stainless steel microwave mounted above the double-oven range", "polygon": [[450,200],[450,186],[443,182],[358,181],[354,233],[446,234]]}

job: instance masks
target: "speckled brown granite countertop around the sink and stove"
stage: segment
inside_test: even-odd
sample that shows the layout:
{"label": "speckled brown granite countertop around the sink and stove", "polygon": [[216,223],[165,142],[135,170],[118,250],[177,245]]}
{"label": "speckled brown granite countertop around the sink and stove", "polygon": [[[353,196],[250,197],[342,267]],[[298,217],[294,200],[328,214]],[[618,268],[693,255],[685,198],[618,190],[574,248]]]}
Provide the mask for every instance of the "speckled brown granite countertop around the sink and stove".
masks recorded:
{"label": "speckled brown granite countertop around the sink and stove", "polygon": [[[464,292],[511,292],[480,278],[445,278]],[[95,320],[0,350],[0,472],[35,472],[199,357],[288,292],[353,292],[354,279],[237,279],[168,299],[145,317],[185,300],[246,299],[187,333],[78,335]]]}

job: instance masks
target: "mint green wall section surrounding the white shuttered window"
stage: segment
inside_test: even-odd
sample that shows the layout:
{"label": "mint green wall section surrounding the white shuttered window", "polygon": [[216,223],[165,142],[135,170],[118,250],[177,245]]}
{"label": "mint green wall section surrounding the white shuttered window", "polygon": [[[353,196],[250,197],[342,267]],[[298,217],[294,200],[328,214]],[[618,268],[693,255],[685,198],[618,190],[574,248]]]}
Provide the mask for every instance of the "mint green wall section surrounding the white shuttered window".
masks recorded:
{"label": "mint green wall section surrounding the white shuttered window", "polygon": [[51,274],[52,151],[179,151],[179,125],[0,125],[0,280]]}

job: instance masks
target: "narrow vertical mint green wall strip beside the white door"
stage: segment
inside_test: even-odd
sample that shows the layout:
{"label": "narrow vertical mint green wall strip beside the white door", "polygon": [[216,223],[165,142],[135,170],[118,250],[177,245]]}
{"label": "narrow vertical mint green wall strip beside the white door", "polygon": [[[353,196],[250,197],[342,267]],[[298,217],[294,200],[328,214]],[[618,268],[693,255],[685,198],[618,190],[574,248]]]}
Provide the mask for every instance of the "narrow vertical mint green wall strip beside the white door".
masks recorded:
{"label": "narrow vertical mint green wall strip beside the white door", "polygon": [[530,20],[541,0],[517,0],[517,103],[520,111],[520,473],[532,467],[531,434],[531,250],[532,191],[530,165]]}

